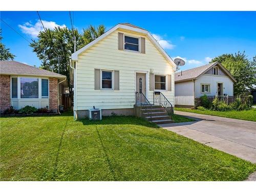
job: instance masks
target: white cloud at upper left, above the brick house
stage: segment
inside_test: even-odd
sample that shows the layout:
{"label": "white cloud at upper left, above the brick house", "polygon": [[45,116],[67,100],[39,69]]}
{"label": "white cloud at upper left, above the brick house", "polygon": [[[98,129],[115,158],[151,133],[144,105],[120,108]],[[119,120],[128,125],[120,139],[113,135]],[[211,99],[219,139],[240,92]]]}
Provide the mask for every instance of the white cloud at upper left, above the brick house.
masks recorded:
{"label": "white cloud at upper left, above the brick house", "polygon": [[[55,22],[48,22],[47,20],[42,20],[42,23],[47,29],[54,29],[55,27],[66,27],[66,25],[58,25]],[[40,20],[37,20],[35,25],[32,25],[31,22],[26,22],[23,25],[18,25],[18,27],[22,30],[23,33],[26,33],[32,37],[36,37],[39,34],[39,31],[44,30]]]}

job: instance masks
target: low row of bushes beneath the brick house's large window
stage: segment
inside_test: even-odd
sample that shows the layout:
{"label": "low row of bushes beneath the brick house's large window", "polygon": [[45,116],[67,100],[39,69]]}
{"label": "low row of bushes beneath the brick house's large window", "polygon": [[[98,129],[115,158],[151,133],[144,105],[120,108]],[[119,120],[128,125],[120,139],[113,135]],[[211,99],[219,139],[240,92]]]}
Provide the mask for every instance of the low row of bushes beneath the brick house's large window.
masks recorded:
{"label": "low row of bushes beneath the brick house's large window", "polygon": [[6,109],[4,111],[4,114],[34,114],[34,113],[53,113],[52,110],[48,110],[48,107],[46,108],[35,108],[34,106],[24,106],[24,108],[21,108],[19,110],[13,109],[13,106],[10,106],[10,108]]}

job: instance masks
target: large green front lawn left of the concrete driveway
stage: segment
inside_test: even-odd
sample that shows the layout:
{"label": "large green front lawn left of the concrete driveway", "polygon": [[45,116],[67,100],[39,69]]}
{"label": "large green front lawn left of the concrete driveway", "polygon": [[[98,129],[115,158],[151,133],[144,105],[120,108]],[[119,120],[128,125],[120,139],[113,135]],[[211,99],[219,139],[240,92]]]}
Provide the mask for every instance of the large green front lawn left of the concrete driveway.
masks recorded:
{"label": "large green front lawn left of the concrete driveway", "polygon": [[1,118],[1,180],[244,180],[256,165],[135,117]]}

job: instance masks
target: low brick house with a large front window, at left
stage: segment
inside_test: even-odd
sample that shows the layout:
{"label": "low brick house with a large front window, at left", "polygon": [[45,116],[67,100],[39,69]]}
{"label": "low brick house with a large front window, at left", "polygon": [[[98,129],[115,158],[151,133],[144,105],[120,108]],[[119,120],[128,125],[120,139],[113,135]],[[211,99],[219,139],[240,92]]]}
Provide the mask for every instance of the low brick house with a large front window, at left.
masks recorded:
{"label": "low brick house with a large front window, at left", "polygon": [[[19,91],[20,90],[20,91]],[[17,61],[0,61],[0,111],[13,106],[48,106],[54,112],[61,105],[61,94],[68,90],[65,75],[35,68]]]}

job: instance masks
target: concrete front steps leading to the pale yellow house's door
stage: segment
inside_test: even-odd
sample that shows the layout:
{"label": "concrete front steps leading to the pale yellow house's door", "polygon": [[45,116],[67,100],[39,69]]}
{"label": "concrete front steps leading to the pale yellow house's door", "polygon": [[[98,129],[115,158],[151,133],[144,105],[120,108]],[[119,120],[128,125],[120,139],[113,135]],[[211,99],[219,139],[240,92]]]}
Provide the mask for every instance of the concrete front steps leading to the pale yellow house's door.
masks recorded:
{"label": "concrete front steps leading to the pale yellow house's door", "polygon": [[[150,114],[147,113],[146,109],[143,106],[135,106],[135,113],[136,116],[143,117],[148,121],[151,120]],[[156,124],[166,124],[166,123],[173,123],[174,121],[170,118],[167,114],[165,109],[160,105],[152,105],[152,122]]]}

